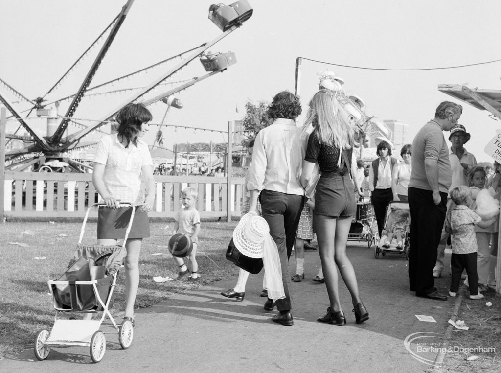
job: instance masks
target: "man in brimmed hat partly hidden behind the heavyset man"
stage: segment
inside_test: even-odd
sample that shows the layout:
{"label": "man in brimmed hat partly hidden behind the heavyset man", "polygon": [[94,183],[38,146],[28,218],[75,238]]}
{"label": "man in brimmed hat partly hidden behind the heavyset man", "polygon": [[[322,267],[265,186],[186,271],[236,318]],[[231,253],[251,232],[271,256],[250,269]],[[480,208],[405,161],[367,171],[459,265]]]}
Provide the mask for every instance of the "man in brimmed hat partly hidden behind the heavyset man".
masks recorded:
{"label": "man in brimmed hat partly hidden behind the heavyset man", "polygon": [[[476,166],[476,158],[473,154],[469,153],[463,145],[468,142],[471,135],[466,132],[466,128],[462,124],[456,124],[449,134],[450,141],[450,151],[449,151],[449,161],[450,169],[452,171],[452,182],[450,184],[449,191],[458,185],[468,186],[468,171]],[[447,199],[447,214],[454,208],[454,203],[450,198]],[[445,239],[447,238],[447,233],[445,232],[445,227],[442,229],[442,236],[440,238],[440,244],[437,248],[437,261],[435,267],[433,268],[433,276],[438,278],[441,276],[444,268],[444,257],[445,257]]]}

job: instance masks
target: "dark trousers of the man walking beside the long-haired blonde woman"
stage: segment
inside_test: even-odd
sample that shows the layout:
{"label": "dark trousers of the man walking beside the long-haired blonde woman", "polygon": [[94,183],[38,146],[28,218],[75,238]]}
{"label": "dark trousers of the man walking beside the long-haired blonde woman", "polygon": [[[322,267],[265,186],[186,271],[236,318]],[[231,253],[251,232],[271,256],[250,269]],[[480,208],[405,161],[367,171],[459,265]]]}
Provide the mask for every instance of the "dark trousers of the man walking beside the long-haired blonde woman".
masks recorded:
{"label": "dark trousers of the man walking beside the long-haired blonde woman", "polygon": [[264,190],[259,196],[259,201],[263,210],[263,218],[270,227],[270,235],[277,244],[282,267],[285,298],[276,301],[277,309],[279,311],[290,310],[292,309],[292,298],[289,293],[289,283],[291,282],[289,258],[298,231],[301,211],[303,211],[304,197]]}

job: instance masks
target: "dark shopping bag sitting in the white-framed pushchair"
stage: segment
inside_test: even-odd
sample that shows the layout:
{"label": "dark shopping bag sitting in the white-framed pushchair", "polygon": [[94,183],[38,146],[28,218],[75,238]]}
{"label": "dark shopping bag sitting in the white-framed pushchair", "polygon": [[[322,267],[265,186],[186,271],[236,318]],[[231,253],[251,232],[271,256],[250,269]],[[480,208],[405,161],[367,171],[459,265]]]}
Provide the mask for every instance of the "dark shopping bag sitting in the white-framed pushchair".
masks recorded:
{"label": "dark shopping bag sitting in the white-framed pushchair", "polygon": [[65,273],[57,280],[69,281],[69,284],[51,285],[56,307],[75,311],[101,311],[103,307],[99,304],[99,301],[94,293],[93,286],[77,285],[72,282],[97,280],[97,292],[101,300],[106,303],[113,277],[105,277],[105,265],[94,264],[101,264],[103,260],[106,260],[106,258],[111,255],[111,253],[111,251],[103,253],[96,257],[95,261],[84,257],[80,257],[77,261],[74,261]]}

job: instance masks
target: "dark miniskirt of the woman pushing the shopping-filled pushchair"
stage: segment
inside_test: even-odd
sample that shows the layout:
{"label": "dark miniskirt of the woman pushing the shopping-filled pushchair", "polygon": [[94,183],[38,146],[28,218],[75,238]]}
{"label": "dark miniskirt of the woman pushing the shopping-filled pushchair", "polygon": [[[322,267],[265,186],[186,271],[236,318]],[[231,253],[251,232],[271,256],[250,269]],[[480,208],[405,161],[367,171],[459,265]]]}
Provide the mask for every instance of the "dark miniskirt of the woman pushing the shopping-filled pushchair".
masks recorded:
{"label": "dark miniskirt of the woman pushing the shopping-filled pushchair", "polygon": [[129,238],[150,237],[148,214],[140,211],[140,207],[119,207],[118,209],[112,209],[100,206],[97,220],[97,239],[123,239],[132,215],[132,209],[135,209],[135,213]]}

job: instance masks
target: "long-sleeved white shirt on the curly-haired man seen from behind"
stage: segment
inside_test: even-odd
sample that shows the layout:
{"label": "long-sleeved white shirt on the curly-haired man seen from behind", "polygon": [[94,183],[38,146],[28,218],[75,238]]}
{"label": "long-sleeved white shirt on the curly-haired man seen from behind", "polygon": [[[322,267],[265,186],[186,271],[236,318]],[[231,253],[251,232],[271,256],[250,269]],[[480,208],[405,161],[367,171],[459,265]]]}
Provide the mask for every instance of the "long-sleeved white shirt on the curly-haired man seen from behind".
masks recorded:
{"label": "long-sleeved white shirt on the curly-haired man seen from behind", "polygon": [[299,178],[304,156],[301,129],[292,119],[277,118],[256,136],[247,189],[303,196]]}

